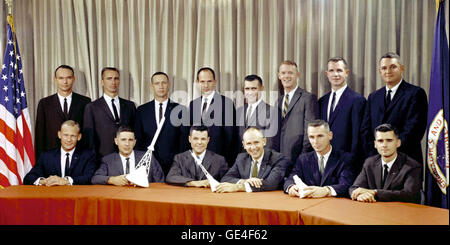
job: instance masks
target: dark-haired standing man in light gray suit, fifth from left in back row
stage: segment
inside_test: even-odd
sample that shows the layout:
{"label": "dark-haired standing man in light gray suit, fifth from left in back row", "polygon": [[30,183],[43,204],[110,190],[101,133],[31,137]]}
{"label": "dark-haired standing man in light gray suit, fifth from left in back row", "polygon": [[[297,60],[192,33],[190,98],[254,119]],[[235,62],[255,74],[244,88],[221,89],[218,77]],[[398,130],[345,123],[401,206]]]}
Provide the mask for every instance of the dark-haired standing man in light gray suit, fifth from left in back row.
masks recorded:
{"label": "dark-haired standing man in light gray suit, fifth from left in back row", "polygon": [[236,110],[236,123],[239,134],[240,152],[245,149],[242,145],[242,136],[249,127],[261,130],[267,139],[266,148],[280,151],[281,112],[278,108],[267,104],[263,98],[264,85],[257,75],[248,75],[244,79],[244,106]]}

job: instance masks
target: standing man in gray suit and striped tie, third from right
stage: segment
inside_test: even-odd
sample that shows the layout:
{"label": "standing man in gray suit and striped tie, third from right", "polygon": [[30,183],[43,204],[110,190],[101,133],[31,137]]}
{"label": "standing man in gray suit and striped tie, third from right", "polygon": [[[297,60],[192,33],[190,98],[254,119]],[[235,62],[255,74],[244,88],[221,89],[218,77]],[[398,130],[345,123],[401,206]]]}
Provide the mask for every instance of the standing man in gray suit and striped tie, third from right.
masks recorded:
{"label": "standing man in gray suit and striped tie, third from right", "polygon": [[[304,152],[312,151],[306,125],[319,116],[317,96],[306,92],[297,85],[300,76],[297,64],[283,61],[278,69],[278,79],[282,93],[278,99],[278,108],[283,116],[280,132],[280,152],[289,157],[292,163]],[[291,167],[288,167],[288,170]]]}

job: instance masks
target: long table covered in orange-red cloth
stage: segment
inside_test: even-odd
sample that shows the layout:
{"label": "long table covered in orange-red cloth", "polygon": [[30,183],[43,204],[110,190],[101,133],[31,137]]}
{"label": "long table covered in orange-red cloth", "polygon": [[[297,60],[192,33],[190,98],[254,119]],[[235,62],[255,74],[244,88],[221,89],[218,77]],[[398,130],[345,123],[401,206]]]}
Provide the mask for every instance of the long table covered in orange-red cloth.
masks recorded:
{"label": "long table covered in orange-red cloth", "polygon": [[410,203],[299,199],[282,191],[212,193],[151,183],[10,186],[0,189],[1,225],[449,225],[449,211]]}

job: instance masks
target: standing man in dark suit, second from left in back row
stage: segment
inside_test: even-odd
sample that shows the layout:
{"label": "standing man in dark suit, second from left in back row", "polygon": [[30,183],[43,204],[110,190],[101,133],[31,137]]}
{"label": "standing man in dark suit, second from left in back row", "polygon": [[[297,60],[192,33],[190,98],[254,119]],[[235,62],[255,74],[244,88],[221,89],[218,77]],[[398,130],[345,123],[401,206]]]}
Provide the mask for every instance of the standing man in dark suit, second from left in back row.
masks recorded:
{"label": "standing man in dark suit, second from left in back row", "polygon": [[97,157],[114,152],[114,138],[120,125],[134,126],[134,102],[119,98],[119,70],[105,67],[101,72],[103,96],[89,103],[84,112],[83,133],[88,147],[95,149]]}

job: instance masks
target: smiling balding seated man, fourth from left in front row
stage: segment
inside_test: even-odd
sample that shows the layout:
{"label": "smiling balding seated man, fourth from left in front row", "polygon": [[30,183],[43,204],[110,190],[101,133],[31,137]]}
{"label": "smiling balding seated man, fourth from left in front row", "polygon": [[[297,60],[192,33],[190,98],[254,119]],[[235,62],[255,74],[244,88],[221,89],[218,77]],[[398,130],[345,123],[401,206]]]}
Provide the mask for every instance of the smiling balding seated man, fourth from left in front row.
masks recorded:
{"label": "smiling balding seated man, fourth from left in front row", "polygon": [[264,149],[266,138],[257,128],[248,128],[242,136],[247,152],[240,153],[233,167],[222,178],[216,192],[256,192],[276,190],[283,181],[288,160],[281,153]]}

